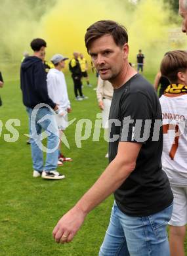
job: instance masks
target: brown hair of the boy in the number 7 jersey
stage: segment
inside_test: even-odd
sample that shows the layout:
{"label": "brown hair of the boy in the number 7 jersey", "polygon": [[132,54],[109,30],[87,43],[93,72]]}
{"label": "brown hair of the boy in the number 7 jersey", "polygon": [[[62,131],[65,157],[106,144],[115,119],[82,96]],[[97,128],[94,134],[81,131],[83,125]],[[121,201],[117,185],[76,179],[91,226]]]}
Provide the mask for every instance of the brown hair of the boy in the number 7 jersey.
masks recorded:
{"label": "brown hair of the boy in the number 7 jersey", "polygon": [[171,83],[177,83],[178,72],[186,72],[187,53],[185,51],[170,51],[161,61],[161,75],[167,77]]}

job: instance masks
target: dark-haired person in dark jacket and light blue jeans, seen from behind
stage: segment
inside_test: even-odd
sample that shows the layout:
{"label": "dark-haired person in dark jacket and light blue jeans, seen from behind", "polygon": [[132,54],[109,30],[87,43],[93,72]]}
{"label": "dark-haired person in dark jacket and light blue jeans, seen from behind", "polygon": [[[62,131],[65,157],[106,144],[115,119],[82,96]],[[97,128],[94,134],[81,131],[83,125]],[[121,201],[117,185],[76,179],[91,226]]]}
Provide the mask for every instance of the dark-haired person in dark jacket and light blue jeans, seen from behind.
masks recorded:
{"label": "dark-haired person in dark jacket and light blue jeans, seen from behind", "polygon": [[[30,119],[33,177],[63,179],[64,175],[56,171],[59,139],[58,128],[51,108],[57,110],[58,106],[49,98],[47,92],[46,74],[42,62],[45,47],[47,44],[43,39],[37,38],[31,41],[33,56],[26,57],[22,62],[20,82],[23,102]],[[38,104],[40,105],[37,106]],[[42,129],[47,131],[48,135],[45,166],[43,166],[43,144],[41,143]]]}

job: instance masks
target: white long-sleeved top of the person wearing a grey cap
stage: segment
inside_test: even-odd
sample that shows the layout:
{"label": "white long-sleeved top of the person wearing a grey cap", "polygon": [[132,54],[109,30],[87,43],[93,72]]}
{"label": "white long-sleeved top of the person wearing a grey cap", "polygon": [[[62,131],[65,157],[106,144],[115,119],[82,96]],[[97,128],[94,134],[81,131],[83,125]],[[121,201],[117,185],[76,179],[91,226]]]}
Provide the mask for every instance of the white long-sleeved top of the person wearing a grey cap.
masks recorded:
{"label": "white long-sleeved top of the person wearing a grey cap", "polygon": [[47,74],[47,89],[49,97],[59,104],[60,108],[70,108],[66,79],[56,68],[51,68]]}

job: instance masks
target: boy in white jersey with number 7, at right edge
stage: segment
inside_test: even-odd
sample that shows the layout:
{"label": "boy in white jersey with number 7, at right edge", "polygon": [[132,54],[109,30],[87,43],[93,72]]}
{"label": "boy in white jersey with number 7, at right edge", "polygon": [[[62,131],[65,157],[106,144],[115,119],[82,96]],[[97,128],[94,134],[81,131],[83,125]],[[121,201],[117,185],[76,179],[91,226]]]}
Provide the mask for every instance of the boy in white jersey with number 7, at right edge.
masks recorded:
{"label": "boy in white jersey with number 7, at right edge", "polygon": [[171,82],[159,99],[163,117],[163,170],[174,195],[169,243],[171,256],[183,256],[187,224],[187,53],[167,53],[161,62],[161,74]]}

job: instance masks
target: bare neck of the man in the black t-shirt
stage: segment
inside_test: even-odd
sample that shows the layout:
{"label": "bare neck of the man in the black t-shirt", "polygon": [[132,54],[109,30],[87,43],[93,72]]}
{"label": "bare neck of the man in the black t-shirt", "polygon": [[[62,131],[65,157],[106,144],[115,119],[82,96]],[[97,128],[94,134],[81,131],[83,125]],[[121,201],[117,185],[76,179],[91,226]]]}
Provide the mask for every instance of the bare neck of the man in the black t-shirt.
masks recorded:
{"label": "bare neck of the man in the black t-shirt", "polygon": [[130,66],[129,62],[127,62],[126,64],[124,64],[124,67],[121,70],[120,74],[117,77],[115,77],[115,81],[111,80],[110,83],[112,83],[114,89],[118,89],[125,83],[127,83],[127,81],[129,81],[129,79],[131,79],[131,77],[133,77],[136,74],[136,70],[134,70],[134,68]]}

